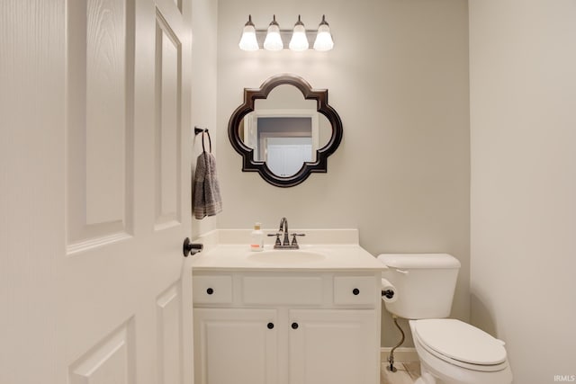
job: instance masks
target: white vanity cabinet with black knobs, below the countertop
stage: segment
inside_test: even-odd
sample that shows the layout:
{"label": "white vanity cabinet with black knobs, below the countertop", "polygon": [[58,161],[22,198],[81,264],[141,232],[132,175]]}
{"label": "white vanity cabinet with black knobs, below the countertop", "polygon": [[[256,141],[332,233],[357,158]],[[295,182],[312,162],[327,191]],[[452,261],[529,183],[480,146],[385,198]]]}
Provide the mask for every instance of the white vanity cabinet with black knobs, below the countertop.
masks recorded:
{"label": "white vanity cabinet with black knobs, below the countertop", "polygon": [[194,272],[196,384],[378,384],[380,272]]}

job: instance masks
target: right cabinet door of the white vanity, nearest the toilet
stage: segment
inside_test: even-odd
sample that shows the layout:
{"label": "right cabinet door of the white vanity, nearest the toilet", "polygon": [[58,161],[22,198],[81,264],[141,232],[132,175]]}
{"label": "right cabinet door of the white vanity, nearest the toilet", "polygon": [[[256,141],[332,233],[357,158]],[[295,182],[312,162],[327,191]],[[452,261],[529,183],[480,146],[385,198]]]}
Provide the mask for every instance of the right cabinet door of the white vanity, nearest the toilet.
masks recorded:
{"label": "right cabinet door of the white vanity, nearest the toilet", "polygon": [[377,384],[374,310],[290,311],[290,384]]}

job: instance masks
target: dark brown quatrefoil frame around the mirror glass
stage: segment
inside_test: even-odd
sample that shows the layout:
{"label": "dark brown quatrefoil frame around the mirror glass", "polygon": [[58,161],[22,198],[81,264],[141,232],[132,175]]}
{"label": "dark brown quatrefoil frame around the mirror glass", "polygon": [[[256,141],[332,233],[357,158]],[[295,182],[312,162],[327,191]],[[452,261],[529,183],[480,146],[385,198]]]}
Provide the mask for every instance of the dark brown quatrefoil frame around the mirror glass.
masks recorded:
{"label": "dark brown quatrefoil frame around the mirror glass", "polygon": [[[304,99],[316,100],[317,111],[326,116],[332,126],[332,136],[329,142],[316,151],[316,161],[304,162],[300,171],[291,176],[278,176],[274,174],[263,161],[254,161],[254,150],[247,147],[239,135],[240,123],[244,117],[254,111],[257,99],[266,99],[268,94],[278,85],[293,85],[298,88]],[[228,123],[228,137],[232,147],[242,156],[242,171],[257,172],[266,182],[277,187],[292,187],[302,183],[311,173],[328,172],[328,156],[332,155],[342,141],[342,121],[334,108],[328,103],[327,89],[312,89],[311,85],[302,77],[295,75],[277,75],[268,78],[257,89],[244,88],[244,103],[240,105]]]}

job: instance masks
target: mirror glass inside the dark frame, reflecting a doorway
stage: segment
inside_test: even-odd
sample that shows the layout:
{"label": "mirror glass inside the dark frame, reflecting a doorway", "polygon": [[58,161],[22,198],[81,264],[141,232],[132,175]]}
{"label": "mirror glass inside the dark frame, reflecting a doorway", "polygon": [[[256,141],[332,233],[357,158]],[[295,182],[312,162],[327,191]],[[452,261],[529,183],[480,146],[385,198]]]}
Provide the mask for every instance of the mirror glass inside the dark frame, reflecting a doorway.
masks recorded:
{"label": "mirror glass inside the dark frame, reflecting a doorway", "polygon": [[253,160],[266,162],[278,176],[296,174],[304,162],[316,161],[316,151],[326,146],[331,134],[316,102],[305,100],[293,85],[278,85],[266,99],[257,100],[239,132],[244,144],[254,149]]}

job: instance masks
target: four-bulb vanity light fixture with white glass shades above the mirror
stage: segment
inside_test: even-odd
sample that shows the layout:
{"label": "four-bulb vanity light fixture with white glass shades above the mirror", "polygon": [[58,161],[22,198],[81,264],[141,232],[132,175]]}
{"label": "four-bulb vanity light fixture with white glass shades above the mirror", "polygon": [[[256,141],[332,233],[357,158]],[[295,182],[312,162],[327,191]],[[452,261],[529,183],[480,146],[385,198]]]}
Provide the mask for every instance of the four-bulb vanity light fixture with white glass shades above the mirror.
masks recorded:
{"label": "four-bulb vanity light fixture with white glass shades above the mirror", "polygon": [[298,21],[294,24],[293,30],[281,30],[276,22],[276,15],[266,30],[257,30],[252,22],[252,16],[248,15],[248,21],[244,25],[242,38],[238,44],[239,48],[247,51],[258,49],[282,50],[289,48],[294,51],[310,49],[309,39],[314,39],[313,48],[319,51],[327,51],[334,48],[334,41],[330,33],[329,23],[326,16],[322,15],[322,21],[318,26],[318,31],[306,31],[302,17],[298,15]]}

